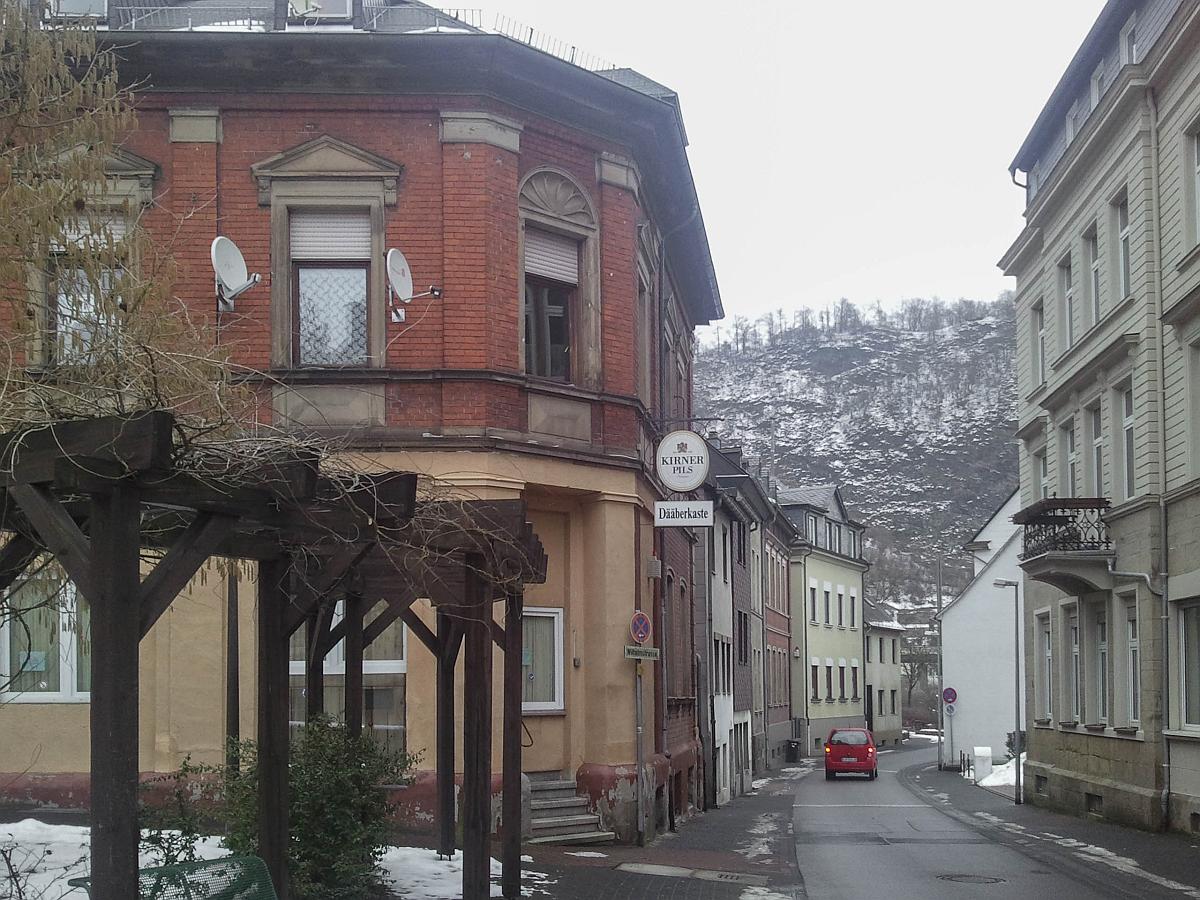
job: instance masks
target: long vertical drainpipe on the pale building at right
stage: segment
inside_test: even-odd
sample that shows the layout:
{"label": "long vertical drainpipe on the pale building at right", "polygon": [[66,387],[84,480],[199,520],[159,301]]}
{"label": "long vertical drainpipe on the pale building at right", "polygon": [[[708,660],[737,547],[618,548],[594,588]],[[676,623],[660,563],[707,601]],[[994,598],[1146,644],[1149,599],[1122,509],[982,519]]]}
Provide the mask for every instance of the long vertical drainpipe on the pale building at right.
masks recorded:
{"label": "long vertical drainpipe on the pale building at right", "polygon": [[[1159,560],[1163,590],[1159,594],[1162,606],[1162,642],[1163,642],[1163,704],[1160,713],[1159,738],[1163,742],[1163,793],[1159,798],[1159,811],[1163,817],[1163,830],[1170,828],[1171,821],[1171,744],[1166,737],[1166,730],[1171,719],[1171,673],[1170,673],[1170,606],[1168,604],[1168,570],[1170,554],[1168,551],[1168,515],[1166,515],[1166,340],[1163,326],[1163,209],[1159,199],[1160,176],[1158,140],[1158,98],[1154,89],[1146,89],[1146,103],[1150,107],[1150,164],[1151,164],[1151,202],[1154,212],[1151,218],[1153,226],[1154,242],[1154,328],[1158,338],[1158,533],[1159,533]],[[1151,588],[1153,592],[1153,588]]]}

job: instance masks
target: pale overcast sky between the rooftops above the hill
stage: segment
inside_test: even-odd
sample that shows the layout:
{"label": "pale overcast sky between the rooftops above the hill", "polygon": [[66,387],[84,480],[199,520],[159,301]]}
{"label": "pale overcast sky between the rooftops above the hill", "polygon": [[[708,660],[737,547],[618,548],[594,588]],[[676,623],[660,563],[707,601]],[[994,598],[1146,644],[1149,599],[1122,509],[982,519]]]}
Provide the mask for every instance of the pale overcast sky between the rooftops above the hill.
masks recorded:
{"label": "pale overcast sky between the rooftops above the hill", "polygon": [[[990,300],[1008,164],[1103,0],[500,0],[678,91],[726,319]],[[491,25],[488,20],[486,24]]]}

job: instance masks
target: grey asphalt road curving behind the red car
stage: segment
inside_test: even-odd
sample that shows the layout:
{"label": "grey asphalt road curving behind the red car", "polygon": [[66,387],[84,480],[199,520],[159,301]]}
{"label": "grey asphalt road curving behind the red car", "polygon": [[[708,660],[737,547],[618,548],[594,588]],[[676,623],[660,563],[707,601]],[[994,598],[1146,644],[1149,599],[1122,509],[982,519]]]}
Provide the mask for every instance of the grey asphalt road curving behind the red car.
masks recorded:
{"label": "grey asphalt road curving behind the red car", "polygon": [[[1054,841],[977,824],[955,811],[944,792],[926,791],[922,770],[936,750],[880,756],[880,778],[821,769],[796,788],[793,829],[804,888],[812,900],[914,898],[1181,898],[1181,893],[1123,872]],[[925,770],[925,780],[938,775]],[[979,788],[971,788],[979,790]],[[1181,886],[1182,887],[1182,886]]]}

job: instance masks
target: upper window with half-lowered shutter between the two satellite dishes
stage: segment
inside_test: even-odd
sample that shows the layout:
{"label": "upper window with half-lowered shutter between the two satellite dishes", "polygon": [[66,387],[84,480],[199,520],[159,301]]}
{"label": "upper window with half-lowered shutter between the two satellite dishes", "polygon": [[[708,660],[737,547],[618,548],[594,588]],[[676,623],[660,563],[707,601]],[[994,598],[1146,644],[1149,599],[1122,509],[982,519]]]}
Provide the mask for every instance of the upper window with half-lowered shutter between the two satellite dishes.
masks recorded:
{"label": "upper window with half-lowered shutter between the two satellite dishes", "polygon": [[293,210],[289,235],[293,364],[367,365],[370,214]]}

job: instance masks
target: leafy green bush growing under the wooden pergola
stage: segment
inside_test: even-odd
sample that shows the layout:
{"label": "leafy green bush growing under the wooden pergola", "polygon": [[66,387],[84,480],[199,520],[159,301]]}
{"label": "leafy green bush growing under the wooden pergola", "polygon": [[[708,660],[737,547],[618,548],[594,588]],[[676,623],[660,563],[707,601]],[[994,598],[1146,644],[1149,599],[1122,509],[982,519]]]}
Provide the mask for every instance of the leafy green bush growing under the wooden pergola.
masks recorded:
{"label": "leafy green bush growing under the wooden pergola", "polygon": [[[239,748],[226,778],[227,833],[234,853],[258,852],[258,754]],[[382,888],[379,857],[391,805],[383,785],[407,784],[416,758],[388,752],[370,733],[352,738],[330,719],[310,721],[292,743],[288,768],[288,872],[300,900],[349,900]]]}

